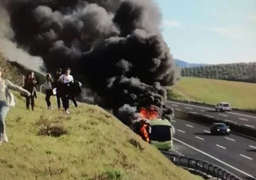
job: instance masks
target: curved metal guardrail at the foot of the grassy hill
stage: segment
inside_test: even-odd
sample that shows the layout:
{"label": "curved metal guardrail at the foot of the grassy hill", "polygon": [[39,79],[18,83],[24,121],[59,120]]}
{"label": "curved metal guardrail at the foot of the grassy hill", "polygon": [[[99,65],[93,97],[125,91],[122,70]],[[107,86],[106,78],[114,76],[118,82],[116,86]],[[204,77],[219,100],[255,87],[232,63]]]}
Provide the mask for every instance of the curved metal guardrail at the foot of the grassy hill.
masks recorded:
{"label": "curved metal guardrail at the foot of the grassy hill", "polygon": [[203,161],[195,158],[189,158],[181,155],[176,155],[174,153],[170,153],[167,151],[161,151],[161,152],[166,158],[168,158],[177,166],[191,168],[191,169],[206,173],[207,175],[214,176],[218,179],[242,180],[240,177],[232,174],[231,172],[215,164],[211,164],[207,161]]}

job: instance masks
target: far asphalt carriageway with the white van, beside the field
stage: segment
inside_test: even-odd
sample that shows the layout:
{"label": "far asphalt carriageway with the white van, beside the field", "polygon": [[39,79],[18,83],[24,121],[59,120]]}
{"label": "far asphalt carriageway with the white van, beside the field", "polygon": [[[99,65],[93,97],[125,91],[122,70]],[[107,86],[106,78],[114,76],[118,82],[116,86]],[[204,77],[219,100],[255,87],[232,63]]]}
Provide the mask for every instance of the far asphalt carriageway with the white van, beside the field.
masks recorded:
{"label": "far asphalt carriageway with the white van, beside the field", "polygon": [[256,128],[256,114],[241,111],[216,112],[214,107],[205,105],[189,104],[186,102],[167,101],[167,104],[177,110],[184,110],[195,114],[201,114],[208,117],[215,117],[226,121],[237,122],[248,127]]}

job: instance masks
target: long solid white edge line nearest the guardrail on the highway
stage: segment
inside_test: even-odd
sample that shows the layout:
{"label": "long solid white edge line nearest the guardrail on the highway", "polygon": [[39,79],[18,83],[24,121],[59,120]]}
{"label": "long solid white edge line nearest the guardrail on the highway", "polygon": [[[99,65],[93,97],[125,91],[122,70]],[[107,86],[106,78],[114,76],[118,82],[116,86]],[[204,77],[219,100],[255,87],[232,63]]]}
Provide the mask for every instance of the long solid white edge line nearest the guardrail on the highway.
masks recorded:
{"label": "long solid white edge line nearest the guardrail on the highway", "polygon": [[254,176],[251,175],[251,174],[248,174],[248,173],[246,173],[246,172],[244,172],[244,171],[242,171],[242,170],[240,170],[240,169],[238,169],[238,168],[236,168],[236,167],[234,167],[234,166],[231,166],[230,164],[225,163],[224,161],[221,161],[221,160],[219,160],[218,158],[215,158],[214,156],[211,156],[211,155],[209,155],[208,153],[206,153],[206,152],[204,152],[204,151],[202,151],[202,150],[199,150],[199,149],[197,149],[196,147],[193,147],[193,146],[191,146],[191,145],[189,145],[189,144],[187,144],[187,143],[185,143],[185,142],[183,142],[183,141],[180,141],[180,140],[178,140],[178,139],[176,139],[176,138],[173,138],[173,139],[174,139],[175,141],[178,141],[179,143],[181,143],[181,144],[187,146],[187,147],[190,147],[191,149],[194,149],[194,150],[196,150],[196,151],[198,151],[198,152],[201,152],[203,155],[206,155],[206,156],[208,156],[208,157],[210,157],[210,158],[212,158],[212,159],[214,159],[214,160],[216,160],[216,161],[218,161],[218,162],[220,162],[220,163],[222,163],[222,164],[224,164],[224,165],[226,165],[226,166],[228,166],[228,167],[230,167],[230,168],[232,168],[232,169],[234,169],[234,170],[236,170],[236,171],[238,171],[238,172],[240,172],[240,173],[242,173],[242,174],[244,174],[244,175],[246,175],[246,176],[248,176],[248,177],[251,177],[251,179],[255,179],[255,180],[256,180],[256,177],[254,177]]}

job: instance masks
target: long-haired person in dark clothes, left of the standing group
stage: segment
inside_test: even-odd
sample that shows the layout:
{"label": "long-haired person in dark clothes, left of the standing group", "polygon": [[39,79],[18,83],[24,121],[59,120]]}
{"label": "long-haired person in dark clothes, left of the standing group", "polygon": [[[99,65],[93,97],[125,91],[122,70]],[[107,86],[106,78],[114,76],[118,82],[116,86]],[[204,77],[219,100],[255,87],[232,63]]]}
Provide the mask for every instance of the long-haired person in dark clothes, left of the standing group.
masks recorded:
{"label": "long-haired person in dark clothes, left of the standing group", "polygon": [[29,105],[31,104],[31,109],[34,111],[34,106],[35,106],[35,98],[36,96],[36,85],[38,85],[39,82],[35,79],[35,74],[33,71],[29,72],[26,79],[25,79],[25,85],[24,89],[29,91],[31,93],[30,96],[25,96],[26,97],[26,107],[29,110]]}

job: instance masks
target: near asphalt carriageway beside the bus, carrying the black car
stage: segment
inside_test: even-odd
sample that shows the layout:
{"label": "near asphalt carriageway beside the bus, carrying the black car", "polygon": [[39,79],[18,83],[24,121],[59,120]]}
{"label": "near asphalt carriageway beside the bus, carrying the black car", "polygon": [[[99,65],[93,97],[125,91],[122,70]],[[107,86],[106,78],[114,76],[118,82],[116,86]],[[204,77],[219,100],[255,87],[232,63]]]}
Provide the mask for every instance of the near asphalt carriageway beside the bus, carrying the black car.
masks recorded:
{"label": "near asphalt carriageway beside the bus, carrying the black car", "polygon": [[216,164],[242,179],[256,179],[256,141],[237,135],[212,136],[209,127],[177,119],[174,150]]}

